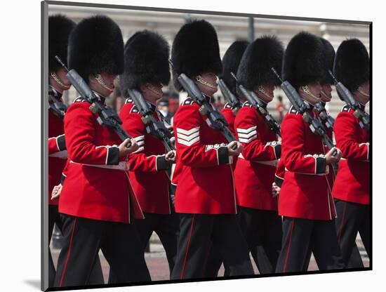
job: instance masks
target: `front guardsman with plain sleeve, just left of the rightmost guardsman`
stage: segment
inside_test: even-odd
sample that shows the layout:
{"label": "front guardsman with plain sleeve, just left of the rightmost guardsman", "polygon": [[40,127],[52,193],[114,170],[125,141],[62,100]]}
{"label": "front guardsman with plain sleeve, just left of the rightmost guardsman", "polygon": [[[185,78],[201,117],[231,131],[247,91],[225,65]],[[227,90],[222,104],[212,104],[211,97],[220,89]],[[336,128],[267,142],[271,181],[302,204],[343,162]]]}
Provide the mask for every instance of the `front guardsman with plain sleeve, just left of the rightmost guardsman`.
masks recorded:
{"label": "front guardsman with plain sleeve, just left of the rightmost guardsman", "polygon": [[[322,54],[319,37],[300,32],[288,43],[284,55],[283,77],[310,105],[311,116],[313,105],[321,100]],[[326,152],[321,138],[293,107],[281,124],[281,136],[285,179],[279,194],[279,215],[283,216],[283,239],[276,272],[303,271],[309,249],[319,270],[343,268],[327,178],[341,152],[336,147]]]}

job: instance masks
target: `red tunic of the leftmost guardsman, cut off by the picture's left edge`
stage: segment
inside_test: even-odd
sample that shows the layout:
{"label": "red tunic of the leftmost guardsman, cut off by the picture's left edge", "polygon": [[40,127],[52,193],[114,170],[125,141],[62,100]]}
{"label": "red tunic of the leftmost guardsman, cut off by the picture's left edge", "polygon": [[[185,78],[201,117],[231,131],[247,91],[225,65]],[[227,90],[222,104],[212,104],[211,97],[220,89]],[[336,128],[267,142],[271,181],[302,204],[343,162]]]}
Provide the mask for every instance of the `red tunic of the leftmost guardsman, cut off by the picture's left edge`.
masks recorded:
{"label": "red tunic of the leftmost guardsman, cut off by the picture's left edge", "polygon": [[65,168],[67,150],[65,145],[63,121],[48,110],[48,204],[58,205],[58,200],[51,200],[51,192],[59,185]]}

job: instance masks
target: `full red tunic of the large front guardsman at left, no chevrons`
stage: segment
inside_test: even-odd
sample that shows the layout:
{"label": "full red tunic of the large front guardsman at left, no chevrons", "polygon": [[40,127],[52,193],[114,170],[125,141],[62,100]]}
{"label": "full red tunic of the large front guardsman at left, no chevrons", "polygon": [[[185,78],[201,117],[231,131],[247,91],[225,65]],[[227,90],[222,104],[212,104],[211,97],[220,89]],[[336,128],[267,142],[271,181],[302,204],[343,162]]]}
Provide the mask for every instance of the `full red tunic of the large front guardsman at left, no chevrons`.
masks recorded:
{"label": "full red tunic of the large front guardsman at left, no chevrons", "polygon": [[143,218],[128,173],[102,168],[118,167],[119,163],[126,165],[126,157],[119,157],[119,136],[111,129],[100,126],[89,107],[88,102],[77,98],[65,115],[70,163],[65,171],[59,212],[121,223],[129,223],[131,215]]}

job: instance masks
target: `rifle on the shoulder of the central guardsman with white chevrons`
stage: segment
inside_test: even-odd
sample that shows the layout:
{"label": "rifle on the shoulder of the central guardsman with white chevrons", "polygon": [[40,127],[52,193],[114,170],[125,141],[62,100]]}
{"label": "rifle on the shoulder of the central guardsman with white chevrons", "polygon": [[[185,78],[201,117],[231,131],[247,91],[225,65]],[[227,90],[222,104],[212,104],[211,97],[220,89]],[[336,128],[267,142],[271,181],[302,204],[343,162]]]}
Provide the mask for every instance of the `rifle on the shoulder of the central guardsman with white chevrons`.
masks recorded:
{"label": "rifle on the shoulder of the central guardsman with white chevrons", "polygon": [[[169,62],[173,67],[171,60],[169,60]],[[208,100],[206,100],[205,95],[201,93],[197,85],[194,84],[194,81],[192,81],[192,79],[187,77],[184,73],[179,74],[177,79],[190,98],[192,98],[194,102],[197,102],[197,104],[200,106],[200,114],[203,116],[208,116],[209,121],[211,121],[211,126],[221,131],[222,135],[224,135],[228,142],[235,141],[236,138],[234,138],[232,132],[229,131],[229,128],[227,128],[228,123],[225,120],[225,117],[220,112],[218,112],[218,110],[213,109],[212,105],[208,102]],[[232,148],[233,150],[236,150],[237,145],[234,145]]]}

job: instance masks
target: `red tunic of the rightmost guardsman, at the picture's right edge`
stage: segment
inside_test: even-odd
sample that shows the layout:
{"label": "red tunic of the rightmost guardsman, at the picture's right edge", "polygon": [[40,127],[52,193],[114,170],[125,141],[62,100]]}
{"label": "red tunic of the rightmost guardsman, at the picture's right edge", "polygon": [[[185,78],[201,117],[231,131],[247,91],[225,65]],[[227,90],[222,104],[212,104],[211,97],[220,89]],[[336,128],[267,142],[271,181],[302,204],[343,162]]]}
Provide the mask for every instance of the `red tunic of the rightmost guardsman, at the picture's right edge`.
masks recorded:
{"label": "red tunic of the rightmost guardsman, at the picture's right edge", "polygon": [[333,129],[337,147],[342,151],[333,197],[357,204],[370,204],[370,136],[359,126],[354,111],[347,105],[335,120]]}

